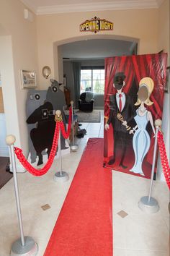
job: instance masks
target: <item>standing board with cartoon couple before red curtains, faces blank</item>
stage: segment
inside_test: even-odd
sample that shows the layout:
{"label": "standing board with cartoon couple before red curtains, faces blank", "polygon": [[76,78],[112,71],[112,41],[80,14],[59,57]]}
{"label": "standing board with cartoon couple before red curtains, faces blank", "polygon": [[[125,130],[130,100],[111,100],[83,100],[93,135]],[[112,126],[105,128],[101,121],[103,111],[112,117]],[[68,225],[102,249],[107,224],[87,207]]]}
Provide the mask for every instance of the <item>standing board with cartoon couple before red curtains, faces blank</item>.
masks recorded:
{"label": "standing board with cartoon couple before red curtains, faces blank", "polygon": [[104,166],[151,177],[154,121],[161,119],[166,54],[105,59]]}

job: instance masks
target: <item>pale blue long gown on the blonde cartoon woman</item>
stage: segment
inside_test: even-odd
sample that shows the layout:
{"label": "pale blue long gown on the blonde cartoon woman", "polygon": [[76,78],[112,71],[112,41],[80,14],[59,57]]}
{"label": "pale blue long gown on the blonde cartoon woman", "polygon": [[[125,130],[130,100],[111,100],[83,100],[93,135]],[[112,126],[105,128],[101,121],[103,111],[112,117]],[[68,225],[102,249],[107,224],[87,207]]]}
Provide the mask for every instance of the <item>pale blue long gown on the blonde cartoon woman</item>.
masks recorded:
{"label": "pale blue long gown on the blonde cartoon woman", "polygon": [[133,150],[135,153],[135,164],[130,171],[133,171],[135,174],[143,174],[142,163],[143,158],[148,153],[151,139],[146,131],[146,125],[148,124],[148,111],[143,116],[139,116],[138,109],[136,111],[137,115],[135,116],[136,124],[138,125],[138,129],[133,135]]}

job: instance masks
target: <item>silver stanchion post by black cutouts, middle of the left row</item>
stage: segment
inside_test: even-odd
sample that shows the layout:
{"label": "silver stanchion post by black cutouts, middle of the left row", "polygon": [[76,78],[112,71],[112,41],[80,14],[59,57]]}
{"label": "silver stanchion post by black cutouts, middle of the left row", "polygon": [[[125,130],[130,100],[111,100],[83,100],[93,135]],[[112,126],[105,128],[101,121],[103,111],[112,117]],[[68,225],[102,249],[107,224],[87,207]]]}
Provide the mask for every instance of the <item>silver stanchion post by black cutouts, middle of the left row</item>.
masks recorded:
{"label": "silver stanchion post by black cutouts, middle of the left row", "polygon": [[[60,119],[61,118],[61,111],[56,111],[56,116]],[[62,120],[62,118],[61,118]],[[55,182],[66,182],[69,179],[69,176],[66,171],[62,170],[62,156],[61,156],[61,128],[59,129],[59,136],[58,136],[58,153],[59,153],[59,162],[60,162],[60,171],[56,172],[54,175]]]}

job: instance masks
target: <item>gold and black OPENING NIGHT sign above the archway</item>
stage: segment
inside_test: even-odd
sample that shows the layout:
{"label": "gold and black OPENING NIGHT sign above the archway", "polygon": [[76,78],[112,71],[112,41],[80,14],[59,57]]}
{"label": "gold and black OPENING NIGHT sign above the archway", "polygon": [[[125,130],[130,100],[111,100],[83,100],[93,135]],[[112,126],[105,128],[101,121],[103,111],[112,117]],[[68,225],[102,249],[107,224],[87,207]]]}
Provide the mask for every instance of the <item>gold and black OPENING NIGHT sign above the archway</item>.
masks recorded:
{"label": "gold and black OPENING NIGHT sign above the archway", "polygon": [[80,25],[81,32],[91,31],[97,33],[100,30],[113,30],[113,23],[105,19],[94,17],[91,20],[86,20]]}

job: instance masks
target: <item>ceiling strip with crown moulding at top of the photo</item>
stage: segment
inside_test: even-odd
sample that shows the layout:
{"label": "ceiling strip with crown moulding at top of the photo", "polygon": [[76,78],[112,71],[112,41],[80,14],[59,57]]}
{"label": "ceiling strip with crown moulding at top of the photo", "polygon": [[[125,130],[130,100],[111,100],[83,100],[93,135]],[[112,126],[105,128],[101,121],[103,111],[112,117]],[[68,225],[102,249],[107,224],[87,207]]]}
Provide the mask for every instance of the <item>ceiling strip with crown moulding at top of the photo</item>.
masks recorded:
{"label": "ceiling strip with crown moulding at top of the photo", "polygon": [[158,8],[164,0],[20,0],[35,14]]}

